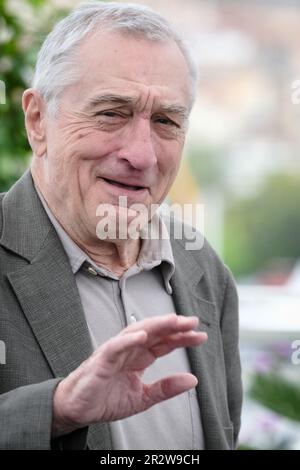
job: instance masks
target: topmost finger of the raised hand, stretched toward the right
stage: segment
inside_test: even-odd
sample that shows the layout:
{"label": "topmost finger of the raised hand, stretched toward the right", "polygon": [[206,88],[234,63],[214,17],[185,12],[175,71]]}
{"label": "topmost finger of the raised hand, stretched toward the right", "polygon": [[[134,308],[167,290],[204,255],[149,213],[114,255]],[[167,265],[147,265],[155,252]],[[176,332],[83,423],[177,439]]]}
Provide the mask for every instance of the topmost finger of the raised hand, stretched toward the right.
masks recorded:
{"label": "topmost finger of the raised hand, stretched toward the right", "polygon": [[178,331],[188,331],[199,325],[197,317],[185,317],[172,313],[170,315],[157,316],[142,320],[133,325],[128,326],[120,335],[126,335],[133,331],[144,330],[148,334],[148,338],[162,337],[176,333]]}

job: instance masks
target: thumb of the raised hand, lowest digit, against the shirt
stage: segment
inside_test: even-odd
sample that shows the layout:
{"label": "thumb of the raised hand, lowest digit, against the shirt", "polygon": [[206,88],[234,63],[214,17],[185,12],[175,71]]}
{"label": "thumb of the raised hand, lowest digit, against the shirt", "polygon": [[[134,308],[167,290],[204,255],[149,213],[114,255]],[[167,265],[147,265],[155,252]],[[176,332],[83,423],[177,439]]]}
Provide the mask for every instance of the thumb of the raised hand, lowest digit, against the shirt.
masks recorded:
{"label": "thumb of the raised hand, lowest digit, against the shirt", "polygon": [[143,401],[145,410],[157,403],[195,388],[197,384],[197,378],[189,373],[175,374],[153,384],[144,384]]}

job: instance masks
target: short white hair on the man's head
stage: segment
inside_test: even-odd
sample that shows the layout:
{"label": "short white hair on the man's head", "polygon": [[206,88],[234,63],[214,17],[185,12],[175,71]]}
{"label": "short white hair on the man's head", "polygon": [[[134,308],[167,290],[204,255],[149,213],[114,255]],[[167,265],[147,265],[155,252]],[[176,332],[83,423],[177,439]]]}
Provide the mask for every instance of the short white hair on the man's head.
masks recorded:
{"label": "short white hair on the man's head", "polygon": [[174,41],[188,66],[192,107],[197,88],[197,66],[186,41],[174,26],[144,5],[89,2],[81,4],[56,24],[38,54],[32,86],[43,96],[50,114],[55,113],[62,91],[80,78],[76,47],[94,31],[116,31],[150,41]]}

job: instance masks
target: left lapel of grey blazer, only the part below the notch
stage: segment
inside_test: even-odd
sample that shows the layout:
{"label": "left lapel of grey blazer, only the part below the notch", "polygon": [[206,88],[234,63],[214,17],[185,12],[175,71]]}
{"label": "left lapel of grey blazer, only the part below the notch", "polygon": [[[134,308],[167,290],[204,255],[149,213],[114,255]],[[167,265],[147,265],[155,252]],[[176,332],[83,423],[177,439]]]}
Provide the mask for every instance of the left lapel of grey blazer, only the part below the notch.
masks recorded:
{"label": "left lapel of grey blazer, only the part below the notch", "polygon": [[31,264],[8,279],[53,375],[64,377],[92,347],[74,276],[53,235]]}

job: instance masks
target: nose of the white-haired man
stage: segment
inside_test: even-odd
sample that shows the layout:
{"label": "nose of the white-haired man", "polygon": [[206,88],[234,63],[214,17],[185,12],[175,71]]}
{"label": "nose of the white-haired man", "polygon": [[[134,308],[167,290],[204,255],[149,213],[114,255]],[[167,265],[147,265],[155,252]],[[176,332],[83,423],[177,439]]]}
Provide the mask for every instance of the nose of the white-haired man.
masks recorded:
{"label": "nose of the white-haired man", "polygon": [[124,144],[119,157],[127,160],[136,170],[147,170],[157,163],[151,136],[151,123],[146,118],[136,118],[123,136]]}

